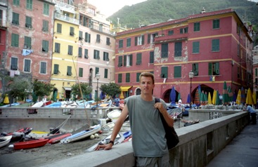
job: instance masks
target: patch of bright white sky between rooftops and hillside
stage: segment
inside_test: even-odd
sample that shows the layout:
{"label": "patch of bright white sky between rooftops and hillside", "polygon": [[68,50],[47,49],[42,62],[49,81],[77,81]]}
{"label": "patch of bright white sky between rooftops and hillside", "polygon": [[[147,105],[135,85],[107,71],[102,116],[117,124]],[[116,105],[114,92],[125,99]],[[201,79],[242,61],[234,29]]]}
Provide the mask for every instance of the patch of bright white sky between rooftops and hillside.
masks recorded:
{"label": "patch of bright white sky between rooftops and hillside", "polygon": [[[131,6],[147,0],[88,0],[89,4],[96,6],[105,16],[110,16],[124,6]],[[258,1],[258,0],[257,0]]]}

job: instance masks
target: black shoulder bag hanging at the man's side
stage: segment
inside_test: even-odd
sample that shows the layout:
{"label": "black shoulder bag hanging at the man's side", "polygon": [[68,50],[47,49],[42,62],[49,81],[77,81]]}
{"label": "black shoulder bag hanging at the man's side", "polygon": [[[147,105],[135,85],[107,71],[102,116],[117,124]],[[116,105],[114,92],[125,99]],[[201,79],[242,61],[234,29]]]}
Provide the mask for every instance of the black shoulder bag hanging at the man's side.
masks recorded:
{"label": "black shoulder bag hanging at the man's side", "polygon": [[[160,102],[159,98],[155,98],[155,102]],[[176,145],[179,143],[179,136],[176,134],[176,131],[174,130],[174,127],[170,127],[167,122],[165,121],[164,117],[162,116],[162,114],[160,113],[160,118],[162,121],[162,124],[164,126],[166,135],[165,137],[167,138],[167,148],[168,149],[172,149],[174,147],[176,147]]]}

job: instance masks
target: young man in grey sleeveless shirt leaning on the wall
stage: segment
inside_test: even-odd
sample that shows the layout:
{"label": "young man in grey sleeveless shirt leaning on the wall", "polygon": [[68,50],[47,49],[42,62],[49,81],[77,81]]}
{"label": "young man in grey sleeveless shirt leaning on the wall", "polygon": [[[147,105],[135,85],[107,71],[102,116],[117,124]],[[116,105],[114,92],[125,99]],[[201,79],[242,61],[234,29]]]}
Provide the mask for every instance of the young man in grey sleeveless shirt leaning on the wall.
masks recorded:
{"label": "young man in grey sleeveless shirt leaning on the wall", "polygon": [[174,119],[169,116],[164,100],[160,99],[160,102],[155,103],[153,97],[154,75],[143,72],[139,77],[141,95],[134,95],[125,99],[124,109],[115,123],[110,143],[108,145],[98,145],[96,150],[112,149],[113,141],[127,115],[129,115],[136,166],[170,166],[165,130],[159,112],[171,127],[174,126]]}

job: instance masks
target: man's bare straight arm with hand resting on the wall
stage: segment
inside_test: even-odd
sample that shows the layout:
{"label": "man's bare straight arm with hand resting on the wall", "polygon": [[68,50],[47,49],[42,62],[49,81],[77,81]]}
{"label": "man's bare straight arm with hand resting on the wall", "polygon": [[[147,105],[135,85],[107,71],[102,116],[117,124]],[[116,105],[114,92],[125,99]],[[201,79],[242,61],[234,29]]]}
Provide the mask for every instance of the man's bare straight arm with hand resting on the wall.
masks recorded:
{"label": "man's bare straight arm with hand resting on the wall", "polygon": [[[117,134],[120,132],[120,129],[121,129],[123,123],[124,123],[124,120],[127,119],[127,115],[128,115],[128,107],[127,107],[127,105],[124,105],[124,109],[122,110],[122,113],[120,114],[119,119],[117,119],[117,121],[115,122],[115,126],[113,128],[110,141],[112,141],[112,142],[115,141],[115,138],[117,137]],[[98,150],[98,149],[105,149],[105,150],[112,149],[113,145],[114,145],[114,143],[111,143],[111,142],[108,143],[107,145],[98,145],[95,148],[95,150]]]}

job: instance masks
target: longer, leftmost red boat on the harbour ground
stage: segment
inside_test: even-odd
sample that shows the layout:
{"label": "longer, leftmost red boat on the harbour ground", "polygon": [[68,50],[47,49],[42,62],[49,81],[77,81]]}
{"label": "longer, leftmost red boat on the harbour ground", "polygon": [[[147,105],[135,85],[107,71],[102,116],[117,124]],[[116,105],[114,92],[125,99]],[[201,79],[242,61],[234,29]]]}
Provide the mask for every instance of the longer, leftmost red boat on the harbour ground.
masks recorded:
{"label": "longer, leftmost red boat on the harbour ground", "polygon": [[46,145],[49,139],[39,139],[39,140],[29,140],[25,142],[15,142],[13,144],[14,149],[32,149],[37,147],[42,147]]}

